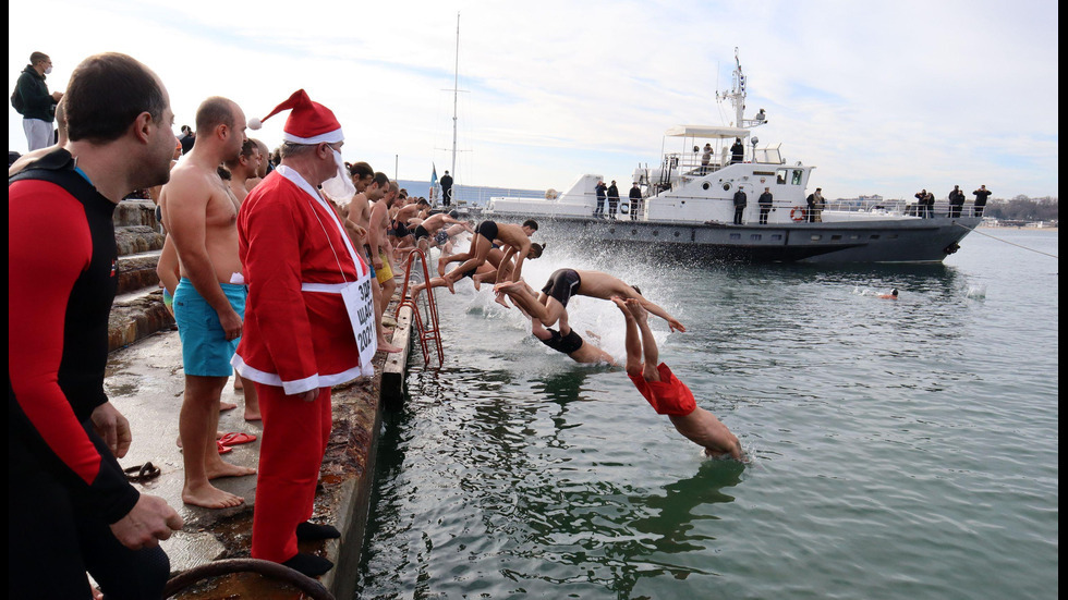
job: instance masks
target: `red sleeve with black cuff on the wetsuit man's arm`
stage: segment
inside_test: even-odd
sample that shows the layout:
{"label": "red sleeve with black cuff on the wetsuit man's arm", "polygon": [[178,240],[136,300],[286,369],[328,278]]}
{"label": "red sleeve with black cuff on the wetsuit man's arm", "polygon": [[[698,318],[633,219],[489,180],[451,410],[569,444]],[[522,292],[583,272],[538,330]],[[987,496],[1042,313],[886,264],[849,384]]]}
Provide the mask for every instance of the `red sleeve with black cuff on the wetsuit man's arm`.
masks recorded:
{"label": "red sleeve with black cuff on the wetsuit man's arm", "polygon": [[[89,264],[93,243],[84,207],[58,189],[40,182],[17,182],[8,188],[9,418],[12,429],[27,432],[29,443],[44,443],[70,470],[68,485],[110,523],[130,512],[138,493],[78,423],[59,387],[64,315],[74,282]],[[34,237],[35,225],[44,221],[52,235],[48,244]],[[102,388],[87,393],[94,394],[87,400],[97,407],[107,404]],[[116,431],[112,448],[118,452],[118,426]],[[121,436],[128,438],[129,432]]]}

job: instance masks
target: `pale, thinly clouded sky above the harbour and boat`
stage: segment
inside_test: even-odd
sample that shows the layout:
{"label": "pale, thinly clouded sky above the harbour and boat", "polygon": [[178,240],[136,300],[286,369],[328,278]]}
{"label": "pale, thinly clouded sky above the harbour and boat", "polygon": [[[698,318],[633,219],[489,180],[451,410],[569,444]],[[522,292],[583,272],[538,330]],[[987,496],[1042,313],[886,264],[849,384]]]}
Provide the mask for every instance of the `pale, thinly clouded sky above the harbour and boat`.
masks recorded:
{"label": "pale, thinly clouded sky above the harbour and boat", "polygon": [[[162,78],[175,132],[209,96],[263,117],[304,88],[345,160],[405,180],[450,169],[460,14],[461,184],[629,181],[676,124],[728,124],[735,48],[761,147],[817,168],[825,195],[1058,195],[1054,0],[95,0],[9,3],[8,88],[32,51],[62,90],[85,57],[125,52]],[[26,150],[8,109],[8,146]],[[250,132],[276,146],[282,115]]]}

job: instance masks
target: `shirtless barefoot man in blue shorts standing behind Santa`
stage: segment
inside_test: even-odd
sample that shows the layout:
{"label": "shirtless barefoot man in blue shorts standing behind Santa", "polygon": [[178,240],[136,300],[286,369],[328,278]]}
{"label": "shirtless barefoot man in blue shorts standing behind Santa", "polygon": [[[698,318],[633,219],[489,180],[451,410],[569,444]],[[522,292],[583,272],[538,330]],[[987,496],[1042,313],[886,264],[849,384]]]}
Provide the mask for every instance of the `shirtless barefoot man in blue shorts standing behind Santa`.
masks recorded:
{"label": "shirtless barefoot man in blue shorts standing behind Santa", "polygon": [[244,285],[238,257],[238,198],[218,174],[245,140],[245,115],[226,98],[205,100],[196,111],[196,144],[171,171],[160,195],[163,221],[174,241],[182,281],[174,290],[174,316],[182,338],[185,400],[179,430],[185,463],[182,501],[207,509],[236,506],[244,499],[210,483],[218,477],[253,475],[254,468],[219,457],[215,434],[219,399],[233,370],[241,336]]}

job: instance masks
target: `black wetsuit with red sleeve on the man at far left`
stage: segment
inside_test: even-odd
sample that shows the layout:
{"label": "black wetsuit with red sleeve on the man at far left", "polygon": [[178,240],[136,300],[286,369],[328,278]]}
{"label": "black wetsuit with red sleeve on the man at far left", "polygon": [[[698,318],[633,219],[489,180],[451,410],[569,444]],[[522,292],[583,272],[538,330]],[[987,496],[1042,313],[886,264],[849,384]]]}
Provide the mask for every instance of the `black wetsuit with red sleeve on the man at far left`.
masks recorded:
{"label": "black wetsuit with red sleeve on the man at far left", "polygon": [[108,598],[159,598],[170,571],[111,532],[141,494],[89,421],[108,402],[114,208],[66,150],[8,180],[11,598],[89,598],[86,571]]}

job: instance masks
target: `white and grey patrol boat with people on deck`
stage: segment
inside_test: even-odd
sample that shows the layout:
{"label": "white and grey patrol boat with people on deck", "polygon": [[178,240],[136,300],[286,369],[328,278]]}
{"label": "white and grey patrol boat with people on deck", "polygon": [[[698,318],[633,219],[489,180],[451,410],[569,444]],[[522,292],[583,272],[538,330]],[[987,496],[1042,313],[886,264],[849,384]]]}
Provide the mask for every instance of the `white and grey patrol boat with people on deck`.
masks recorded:
{"label": "white and grey patrol boat with people on deck", "polygon": [[[729,99],[738,126],[679,125],[665,134],[681,148],[667,151],[655,169],[639,168],[641,200],[630,199],[630,183],[619,189],[615,219],[609,200],[598,201],[598,174],[584,174],[563,194],[541,198],[490,198],[486,219],[535,219],[546,238],[577,237],[583,243],[653,244],[712,256],[753,261],[940,262],[955,253],[981,217],[972,207],[945,201],[930,209],[903,200],[858,199],[810,205],[805,187],[813,166],[787,164],[781,144],[757,148],[751,130],[766,123],[764,110],[744,119],[745,76],[736,49]],[[668,144],[665,144],[667,147]],[[766,223],[758,203],[773,196]],[[736,224],[735,197],[747,196]],[[603,209],[598,210],[598,205]],[[927,218],[924,218],[927,217]]]}

